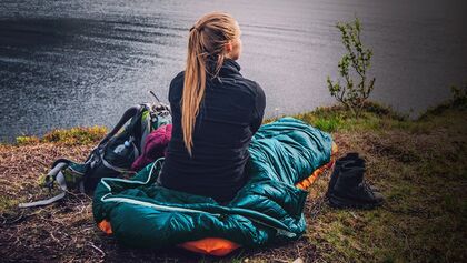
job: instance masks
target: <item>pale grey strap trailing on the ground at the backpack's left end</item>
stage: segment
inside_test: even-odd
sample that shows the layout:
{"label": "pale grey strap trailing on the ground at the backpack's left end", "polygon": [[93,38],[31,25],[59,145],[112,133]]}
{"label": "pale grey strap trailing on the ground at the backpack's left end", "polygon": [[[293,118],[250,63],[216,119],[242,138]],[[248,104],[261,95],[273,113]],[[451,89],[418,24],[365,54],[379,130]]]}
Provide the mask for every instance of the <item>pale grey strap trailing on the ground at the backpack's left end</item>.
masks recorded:
{"label": "pale grey strap trailing on the ground at the backpack's left end", "polygon": [[[50,170],[50,172],[47,174],[47,182],[46,182],[46,186],[48,186],[50,189],[50,183],[53,183],[53,180],[57,181],[60,190],[62,191],[61,193],[59,193],[58,195],[50,198],[50,199],[46,199],[46,200],[39,200],[36,202],[30,202],[30,203],[20,203],[18,206],[20,209],[24,209],[24,208],[34,208],[34,206],[41,206],[41,205],[48,205],[51,204],[53,202],[57,202],[61,199],[64,198],[64,195],[67,194],[67,183],[64,181],[64,175],[63,173],[61,173],[61,170],[68,166],[68,162],[56,162],[52,170]],[[50,181],[52,180],[52,181]]]}

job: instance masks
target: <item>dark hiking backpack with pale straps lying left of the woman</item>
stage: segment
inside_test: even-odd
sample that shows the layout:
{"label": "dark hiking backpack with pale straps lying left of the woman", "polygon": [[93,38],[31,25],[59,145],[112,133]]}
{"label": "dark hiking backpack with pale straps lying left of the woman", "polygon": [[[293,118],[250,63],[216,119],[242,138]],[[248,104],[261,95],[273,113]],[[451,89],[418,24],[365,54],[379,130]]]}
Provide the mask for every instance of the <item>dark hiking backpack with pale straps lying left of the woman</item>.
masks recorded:
{"label": "dark hiking backpack with pale straps lying left of the woman", "polygon": [[68,191],[91,194],[102,178],[128,178],[136,174],[131,171],[131,164],[142,153],[146,138],[160,125],[169,123],[170,108],[159,100],[156,104],[131,107],[83,163],[68,159],[53,162],[52,169],[46,175],[44,186],[51,192],[57,184],[60,194],[47,200],[21,203],[19,208],[51,204],[64,198]]}

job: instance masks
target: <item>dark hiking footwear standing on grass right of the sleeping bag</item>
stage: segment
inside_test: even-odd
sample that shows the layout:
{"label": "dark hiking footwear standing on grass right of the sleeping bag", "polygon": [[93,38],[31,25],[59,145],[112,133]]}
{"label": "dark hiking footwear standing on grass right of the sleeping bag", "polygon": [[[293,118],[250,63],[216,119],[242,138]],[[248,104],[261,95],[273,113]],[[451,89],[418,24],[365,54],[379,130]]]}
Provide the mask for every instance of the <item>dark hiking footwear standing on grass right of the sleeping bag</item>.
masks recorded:
{"label": "dark hiking footwear standing on grass right of the sleeping bag", "polygon": [[329,193],[329,204],[334,208],[372,209],[382,204],[382,195],[364,182],[365,165],[361,161],[345,163]]}

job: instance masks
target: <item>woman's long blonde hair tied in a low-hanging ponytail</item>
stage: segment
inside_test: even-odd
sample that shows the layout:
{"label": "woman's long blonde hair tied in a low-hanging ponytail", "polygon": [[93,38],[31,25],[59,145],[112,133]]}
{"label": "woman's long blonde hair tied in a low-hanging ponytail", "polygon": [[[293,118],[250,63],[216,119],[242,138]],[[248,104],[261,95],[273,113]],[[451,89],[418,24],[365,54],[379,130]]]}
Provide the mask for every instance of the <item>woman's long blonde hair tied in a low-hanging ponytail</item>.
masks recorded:
{"label": "woman's long blonde hair tied in a low-hanging ponytail", "polygon": [[[188,55],[181,98],[181,129],[185,146],[191,156],[196,118],[206,90],[206,73],[217,77],[225,60],[225,45],[239,37],[237,21],[226,12],[201,17],[190,29]],[[215,71],[207,69],[208,59],[216,61]]]}

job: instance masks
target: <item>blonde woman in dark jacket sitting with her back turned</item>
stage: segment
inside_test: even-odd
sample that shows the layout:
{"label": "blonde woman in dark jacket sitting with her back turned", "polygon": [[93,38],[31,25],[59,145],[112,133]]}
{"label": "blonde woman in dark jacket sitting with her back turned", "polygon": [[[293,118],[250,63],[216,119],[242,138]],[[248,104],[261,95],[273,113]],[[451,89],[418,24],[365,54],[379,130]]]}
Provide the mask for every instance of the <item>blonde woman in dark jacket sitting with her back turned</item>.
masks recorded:
{"label": "blonde woman in dark jacket sitting with her back turned", "polygon": [[225,203],[246,183],[251,136],[266,98],[240,74],[240,28],[211,12],[190,29],[186,70],[171,81],[172,138],[159,183]]}

